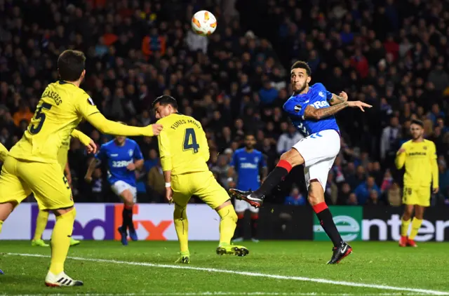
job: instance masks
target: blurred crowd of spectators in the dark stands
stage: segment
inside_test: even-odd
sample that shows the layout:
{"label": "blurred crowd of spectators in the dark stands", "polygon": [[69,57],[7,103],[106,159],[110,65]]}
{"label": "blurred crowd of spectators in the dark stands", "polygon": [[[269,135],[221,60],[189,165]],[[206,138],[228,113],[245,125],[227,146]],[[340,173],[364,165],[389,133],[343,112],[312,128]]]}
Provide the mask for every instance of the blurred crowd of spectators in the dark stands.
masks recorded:
{"label": "blurred crowd of spectators in the dark stands", "polygon": [[[177,98],[180,112],[199,119],[210,146],[210,169],[226,188],[229,161],[254,133],[269,170],[302,135],[282,112],[292,93],[290,65],[305,60],[312,82],[368,112],[337,114],[341,153],[326,184],[329,204],[401,204],[402,172],[394,156],[422,119],[436,144],[440,193],[449,197],[449,10],[445,1],[296,0],[0,0],[0,142],[11,148],[32,118],[43,89],[58,79],[65,49],[86,53],[81,85],[108,119],[133,126],[154,122],[155,97]],[[194,12],[217,17],[209,37],[190,29]],[[88,123],[97,144],[112,137]],[[140,202],[163,202],[156,138],[136,138],[145,156],[137,173]],[[69,165],[76,201],[117,201],[98,168],[84,182],[88,161],[72,140]],[[302,168],[295,168],[272,202],[302,205]],[[193,200],[194,201],[194,200]]]}

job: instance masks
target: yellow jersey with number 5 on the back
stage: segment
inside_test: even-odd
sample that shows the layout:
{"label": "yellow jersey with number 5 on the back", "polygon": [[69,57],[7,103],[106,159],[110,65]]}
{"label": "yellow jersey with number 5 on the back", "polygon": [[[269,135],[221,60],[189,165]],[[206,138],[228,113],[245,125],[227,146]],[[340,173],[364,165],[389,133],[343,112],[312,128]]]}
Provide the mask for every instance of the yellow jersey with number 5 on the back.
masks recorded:
{"label": "yellow jersey with number 5 on the back", "polygon": [[11,148],[15,159],[58,162],[62,142],[69,140],[81,119],[99,112],[93,100],[72,83],[57,81],[44,90],[22,138]]}

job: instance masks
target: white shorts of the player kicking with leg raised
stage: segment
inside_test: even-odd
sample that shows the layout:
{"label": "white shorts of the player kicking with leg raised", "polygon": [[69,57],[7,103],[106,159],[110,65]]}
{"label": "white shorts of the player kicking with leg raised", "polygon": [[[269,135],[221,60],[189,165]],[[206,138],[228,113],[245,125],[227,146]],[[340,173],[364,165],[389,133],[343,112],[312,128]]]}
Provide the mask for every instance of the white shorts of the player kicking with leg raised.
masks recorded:
{"label": "white shorts of the player kicking with leg raised", "polygon": [[340,152],[340,134],[337,130],[322,130],[293,145],[304,159],[304,177],[307,189],[311,180],[318,180],[326,189],[328,174]]}

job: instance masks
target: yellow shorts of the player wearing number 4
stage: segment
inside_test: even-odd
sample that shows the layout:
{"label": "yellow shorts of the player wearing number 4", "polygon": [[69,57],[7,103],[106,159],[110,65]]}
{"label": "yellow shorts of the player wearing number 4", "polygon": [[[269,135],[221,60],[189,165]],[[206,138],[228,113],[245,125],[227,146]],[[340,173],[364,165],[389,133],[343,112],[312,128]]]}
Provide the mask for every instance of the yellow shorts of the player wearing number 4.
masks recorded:
{"label": "yellow shorts of the player wearing number 4", "polygon": [[218,184],[210,171],[172,175],[171,188],[173,201],[182,208],[187,206],[192,195],[199,196],[213,209],[230,199],[229,194]]}

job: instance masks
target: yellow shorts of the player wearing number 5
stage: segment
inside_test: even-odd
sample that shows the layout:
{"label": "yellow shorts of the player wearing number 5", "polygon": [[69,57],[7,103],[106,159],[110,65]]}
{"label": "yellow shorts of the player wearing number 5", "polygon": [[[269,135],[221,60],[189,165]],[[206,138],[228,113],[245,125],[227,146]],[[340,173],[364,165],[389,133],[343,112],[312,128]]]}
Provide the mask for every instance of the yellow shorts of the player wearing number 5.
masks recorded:
{"label": "yellow shorts of the player wearing number 5", "polygon": [[18,205],[31,192],[34,192],[39,210],[74,206],[72,189],[59,163],[20,161],[8,156],[1,168],[0,203]]}

